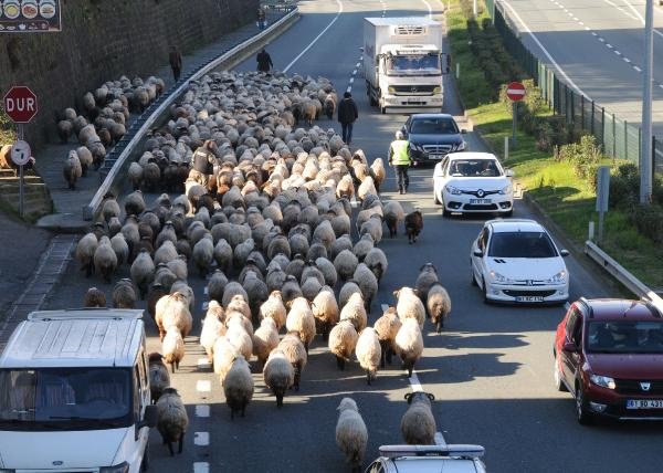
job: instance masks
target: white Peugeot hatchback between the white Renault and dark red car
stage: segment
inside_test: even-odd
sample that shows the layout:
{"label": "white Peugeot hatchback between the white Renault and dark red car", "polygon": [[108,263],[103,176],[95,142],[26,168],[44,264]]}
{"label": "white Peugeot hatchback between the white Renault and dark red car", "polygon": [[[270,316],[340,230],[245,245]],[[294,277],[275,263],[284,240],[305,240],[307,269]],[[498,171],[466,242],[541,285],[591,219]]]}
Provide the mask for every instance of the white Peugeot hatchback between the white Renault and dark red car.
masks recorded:
{"label": "white Peugeot hatchback between the white Renault and dark red car", "polygon": [[534,220],[490,220],[472,244],[472,284],[483,290],[486,303],[564,304],[568,254]]}

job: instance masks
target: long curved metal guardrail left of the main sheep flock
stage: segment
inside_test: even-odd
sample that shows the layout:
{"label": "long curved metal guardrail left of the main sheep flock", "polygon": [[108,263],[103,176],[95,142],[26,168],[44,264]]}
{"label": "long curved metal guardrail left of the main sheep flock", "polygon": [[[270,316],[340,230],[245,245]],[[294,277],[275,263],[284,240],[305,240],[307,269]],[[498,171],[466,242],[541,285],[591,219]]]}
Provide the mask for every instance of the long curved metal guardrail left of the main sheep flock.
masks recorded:
{"label": "long curved metal guardrail left of the main sheep flock", "polygon": [[[83,219],[93,220],[98,212],[101,204],[104,200],[104,196],[118,182],[122,172],[125,167],[130,162],[130,157],[134,154],[136,147],[145,138],[147,132],[155,125],[155,123],[161,118],[161,116],[169,109],[170,105],[179,98],[179,96],[187,91],[189,83],[196,81],[210,71],[218,69],[224,64],[232,62],[239,62],[250,54],[253,54],[252,46],[261,44],[261,42],[272,38],[281,29],[290,27],[299,14],[297,7],[294,7],[290,13],[274,22],[264,31],[257,33],[255,36],[231,48],[220,56],[208,61],[197,71],[189,74],[181,83],[175,84],[168,93],[166,93],[160,99],[155,102],[148,107],[143,115],[140,115],[134,124],[127,130],[127,135],[116,145],[110,151],[106,160],[108,161],[109,169],[103,169],[107,172],[103,182],[99,185],[96,193],[87,206],[83,206]],[[119,146],[119,149],[116,149]]]}

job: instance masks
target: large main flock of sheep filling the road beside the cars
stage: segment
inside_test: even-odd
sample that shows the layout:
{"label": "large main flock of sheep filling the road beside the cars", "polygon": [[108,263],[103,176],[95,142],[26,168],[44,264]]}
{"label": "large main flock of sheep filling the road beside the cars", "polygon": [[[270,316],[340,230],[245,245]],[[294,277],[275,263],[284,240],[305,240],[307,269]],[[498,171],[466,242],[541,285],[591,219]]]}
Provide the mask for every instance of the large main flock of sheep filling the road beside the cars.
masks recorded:
{"label": "large main flock of sheep filling the road beside the cars", "polygon": [[[167,365],[172,372],[179,367],[194,323],[190,271],[208,278],[199,341],[219,376],[231,418],[244,416],[253,397],[250,362],[253,371],[262,368],[278,408],[290,389],[299,389],[318,335],[339,369],[354,355],[369,385],[393,354],[411,376],[423,353],[427,313],[440,332],[451,312],[450,297],[429,263],[415,288],[396,291],[396,306],[369,326],[371,303],[388,270],[378,248],[383,224],[396,236],[404,222],[412,240],[422,220],[419,211],[404,216],[397,201],[380,200],[386,176],[380,158],[369,164],[333,130],[295,128],[293,107],[317,101],[324,111],[333,93],[324,78],[284,74],[213,73],[192,83],[172,107],[172,119],[147,140],[136,164],[144,174],[134,181],[137,189],[126,197],[124,209],[108,195],[99,221],[76,246],[88,276],[96,273],[110,283],[128,267],[130,278],[113,288],[114,307],[147,299],[162,344],[161,353],[149,357],[152,400],[171,453],[172,442],[181,451],[188,425]],[[207,140],[215,145],[213,175],[180,166]],[[160,174],[148,183],[145,171],[151,164]],[[169,186],[183,177],[165,178],[162,169],[172,164],[188,171],[183,193],[162,193],[148,206],[141,187],[175,190]],[[355,199],[359,209],[352,219]],[[84,304],[106,306],[106,296],[92,287]],[[433,443],[431,400],[420,393],[408,398],[401,424],[407,442]],[[361,428],[351,399],[344,399],[339,410],[337,442],[358,467],[366,425]]]}

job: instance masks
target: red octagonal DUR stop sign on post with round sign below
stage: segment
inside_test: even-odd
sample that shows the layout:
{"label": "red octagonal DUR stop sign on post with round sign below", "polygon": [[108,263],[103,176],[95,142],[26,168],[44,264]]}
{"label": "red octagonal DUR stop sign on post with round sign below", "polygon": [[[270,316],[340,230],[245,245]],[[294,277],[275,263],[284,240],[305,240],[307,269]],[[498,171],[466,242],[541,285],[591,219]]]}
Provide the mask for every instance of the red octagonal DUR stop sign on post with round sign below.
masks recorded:
{"label": "red octagonal DUR stop sign on post with round sign below", "polygon": [[23,124],[30,123],[36,115],[36,95],[24,85],[13,86],[4,95],[4,112],[18,125],[19,140],[11,147],[11,160],[19,167],[19,213],[23,217],[24,179],[23,166],[30,161],[30,145],[25,143]]}

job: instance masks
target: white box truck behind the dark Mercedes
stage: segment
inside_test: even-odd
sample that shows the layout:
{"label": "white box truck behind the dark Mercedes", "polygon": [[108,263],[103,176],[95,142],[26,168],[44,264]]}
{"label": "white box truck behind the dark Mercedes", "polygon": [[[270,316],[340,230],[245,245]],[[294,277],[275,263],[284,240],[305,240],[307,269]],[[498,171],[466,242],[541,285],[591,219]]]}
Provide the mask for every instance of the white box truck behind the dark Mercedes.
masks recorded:
{"label": "white box truck behind the dark Mercedes", "polygon": [[383,114],[441,112],[448,60],[442,53],[442,25],[434,20],[364,19],[366,90],[370,104]]}

